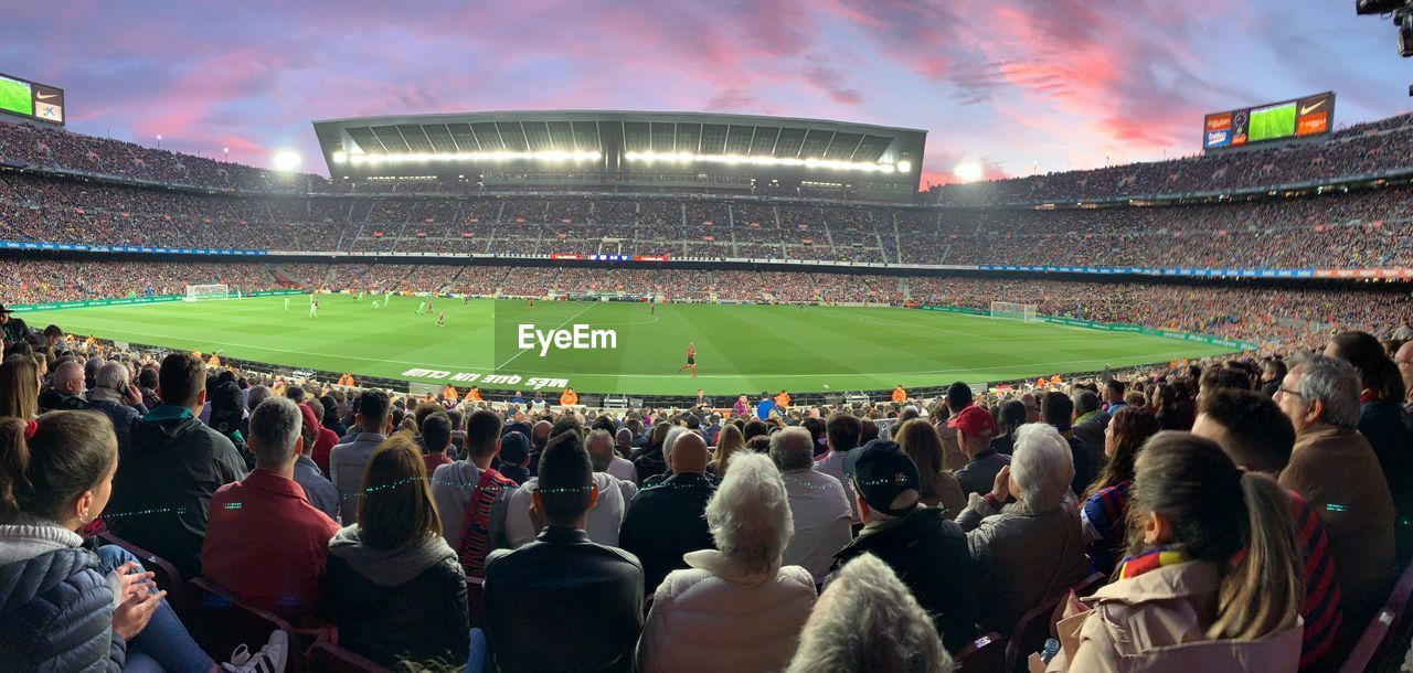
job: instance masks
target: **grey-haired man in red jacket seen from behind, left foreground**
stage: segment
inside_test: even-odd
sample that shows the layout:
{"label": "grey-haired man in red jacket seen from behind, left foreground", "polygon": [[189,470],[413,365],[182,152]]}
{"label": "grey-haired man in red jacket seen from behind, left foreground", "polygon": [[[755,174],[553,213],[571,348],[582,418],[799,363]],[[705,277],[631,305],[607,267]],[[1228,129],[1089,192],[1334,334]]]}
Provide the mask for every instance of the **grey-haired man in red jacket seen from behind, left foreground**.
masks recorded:
{"label": "grey-haired man in red jacket seen from behind, left foreground", "polygon": [[307,625],[318,608],[319,577],[339,525],[314,508],[294,480],[304,450],[300,406],[271,398],[256,409],[250,420],[256,468],[211,497],[201,569],[242,601]]}

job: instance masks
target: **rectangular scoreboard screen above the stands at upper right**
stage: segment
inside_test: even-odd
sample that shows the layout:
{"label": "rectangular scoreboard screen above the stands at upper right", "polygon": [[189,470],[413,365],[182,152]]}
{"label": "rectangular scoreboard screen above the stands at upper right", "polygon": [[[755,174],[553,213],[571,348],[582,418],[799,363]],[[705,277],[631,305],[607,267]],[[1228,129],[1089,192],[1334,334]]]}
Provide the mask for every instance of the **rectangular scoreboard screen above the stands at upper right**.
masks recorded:
{"label": "rectangular scoreboard screen above the stands at upper right", "polygon": [[1334,128],[1334,92],[1208,114],[1202,126],[1202,150],[1324,135]]}

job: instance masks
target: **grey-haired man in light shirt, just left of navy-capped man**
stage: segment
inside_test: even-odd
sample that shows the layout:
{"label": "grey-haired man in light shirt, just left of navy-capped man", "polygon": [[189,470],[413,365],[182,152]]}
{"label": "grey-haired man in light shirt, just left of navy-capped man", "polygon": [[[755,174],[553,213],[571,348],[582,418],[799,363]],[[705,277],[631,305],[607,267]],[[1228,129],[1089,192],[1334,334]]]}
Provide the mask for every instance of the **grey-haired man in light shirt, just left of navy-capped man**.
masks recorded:
{"label": "grey-haired man in light shirt, just left of navy-capped man", "polygon": [[839,480],[814,468],[814,437],[804,428],[786,428],[770,436],[770,460],[780,468],[790,497],[796,533],[781,563],[800,566],[815,584],[829,574],[834,554],[853,539],[853,511]]}

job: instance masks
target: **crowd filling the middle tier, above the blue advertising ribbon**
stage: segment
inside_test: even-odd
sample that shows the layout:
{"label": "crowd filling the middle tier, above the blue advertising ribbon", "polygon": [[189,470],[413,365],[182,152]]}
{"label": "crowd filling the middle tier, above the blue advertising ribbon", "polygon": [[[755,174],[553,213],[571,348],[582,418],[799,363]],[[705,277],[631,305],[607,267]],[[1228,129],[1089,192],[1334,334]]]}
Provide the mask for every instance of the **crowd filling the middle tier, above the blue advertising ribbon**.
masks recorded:
{"label": "crowd filling the middle tier, above the blue advertising ribbon", "polygon": [[212,195],[0,174],[0,240],[365,254],[1409,268],[1410,207],[1407,186],[1171,207],[1034,210],[701,198]]}

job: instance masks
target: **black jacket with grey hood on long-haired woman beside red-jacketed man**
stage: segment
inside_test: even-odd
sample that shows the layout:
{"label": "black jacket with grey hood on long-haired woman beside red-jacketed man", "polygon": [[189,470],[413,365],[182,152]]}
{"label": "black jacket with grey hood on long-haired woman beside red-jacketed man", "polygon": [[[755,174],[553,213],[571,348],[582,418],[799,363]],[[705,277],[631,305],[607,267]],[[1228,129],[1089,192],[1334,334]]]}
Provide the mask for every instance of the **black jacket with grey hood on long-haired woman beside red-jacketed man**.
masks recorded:
{"label": "black jacket with grey hood on long-haired woman beside red-jacketed man", "polygon": [[465,665],[471,633],[466,576],[439,535],[398,549],[373,549],[357,526],[329,540],[322,578],[339,645],[382,666],[400,660]]}

